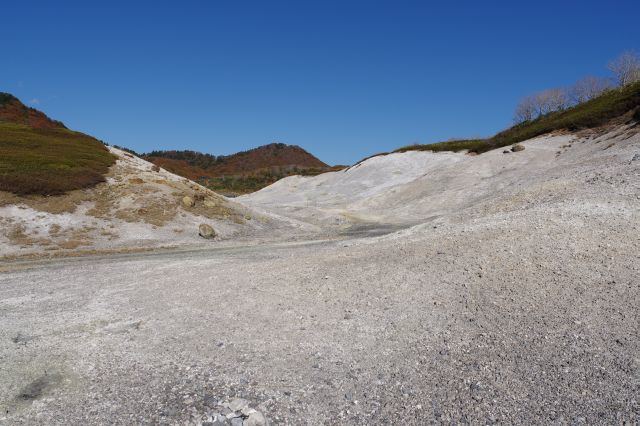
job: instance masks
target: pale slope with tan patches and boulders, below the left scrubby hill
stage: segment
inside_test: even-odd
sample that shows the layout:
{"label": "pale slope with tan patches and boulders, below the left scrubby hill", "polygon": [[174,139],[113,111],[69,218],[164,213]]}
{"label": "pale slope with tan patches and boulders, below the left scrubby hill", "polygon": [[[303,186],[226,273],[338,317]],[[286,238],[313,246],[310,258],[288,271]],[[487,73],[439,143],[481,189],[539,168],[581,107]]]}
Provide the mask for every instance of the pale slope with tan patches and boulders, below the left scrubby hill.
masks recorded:
{"label": "pale slope with tan patches and boulders, below the left scrubby hill", "polygon": [[[118,160],[95,188],[51,197],[0,192],[0,258],[211,244],[198,235],[200,224],[215,229],[218,243],[300,227],[109,149]],[[185,196],[195,205],[184,205]]]}

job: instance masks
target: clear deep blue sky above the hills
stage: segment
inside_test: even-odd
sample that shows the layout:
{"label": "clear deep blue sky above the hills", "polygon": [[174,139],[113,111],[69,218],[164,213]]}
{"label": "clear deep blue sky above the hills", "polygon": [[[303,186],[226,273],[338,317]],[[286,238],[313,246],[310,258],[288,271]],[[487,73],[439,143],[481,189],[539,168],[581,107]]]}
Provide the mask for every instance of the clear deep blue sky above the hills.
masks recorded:
{"label": "clear deep blue sky above the hills", "polygon": [[278,141],[343,164],[491,135],[640,49],[637,0],[99,3],[4,2],[0,91],[143,152]]}

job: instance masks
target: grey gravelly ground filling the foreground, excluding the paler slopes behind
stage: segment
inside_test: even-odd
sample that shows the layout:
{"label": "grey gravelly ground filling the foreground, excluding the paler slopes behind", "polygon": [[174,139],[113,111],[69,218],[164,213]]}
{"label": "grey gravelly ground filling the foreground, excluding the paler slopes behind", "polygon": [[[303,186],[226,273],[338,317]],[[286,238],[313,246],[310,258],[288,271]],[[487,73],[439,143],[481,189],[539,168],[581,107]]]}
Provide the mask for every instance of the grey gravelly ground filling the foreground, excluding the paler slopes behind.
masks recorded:
{"label": "grey gravelly ground filling the foreground, excluding the paler slopes behind", "polygon": [[638,241],[599,225],[21,265],[0,420],[198,423],[242,397],[272,424],[637,421]]}

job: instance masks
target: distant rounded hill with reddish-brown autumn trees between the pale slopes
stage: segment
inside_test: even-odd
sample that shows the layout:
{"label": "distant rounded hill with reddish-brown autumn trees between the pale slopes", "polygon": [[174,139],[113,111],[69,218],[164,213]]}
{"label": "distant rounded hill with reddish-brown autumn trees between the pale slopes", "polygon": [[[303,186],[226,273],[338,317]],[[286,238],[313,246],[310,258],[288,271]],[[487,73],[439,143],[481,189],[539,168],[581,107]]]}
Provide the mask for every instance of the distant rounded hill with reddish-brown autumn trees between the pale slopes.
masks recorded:
{"label": "distant rounded hill with reddish-brown autumn trees between the pale slopes", "polygon": [[335,170],[296,145],[272,143],[233,155],[152,151],[142,157],[172,173],[227,195],[256,191],[294,174]]}

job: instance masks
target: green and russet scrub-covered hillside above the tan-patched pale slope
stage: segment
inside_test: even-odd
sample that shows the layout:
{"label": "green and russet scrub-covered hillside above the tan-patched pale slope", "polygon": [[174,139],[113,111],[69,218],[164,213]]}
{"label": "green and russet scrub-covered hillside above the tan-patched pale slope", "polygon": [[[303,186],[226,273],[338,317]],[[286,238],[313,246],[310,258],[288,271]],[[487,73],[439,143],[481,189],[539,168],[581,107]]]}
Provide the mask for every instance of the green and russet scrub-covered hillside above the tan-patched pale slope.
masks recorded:
{"label": "green and russet scrub-covered hillside above the tan-patched pale slope", "polygon": [[99,140],[0,93],[0,191],[61,194],[104,181],[115,157]]}

